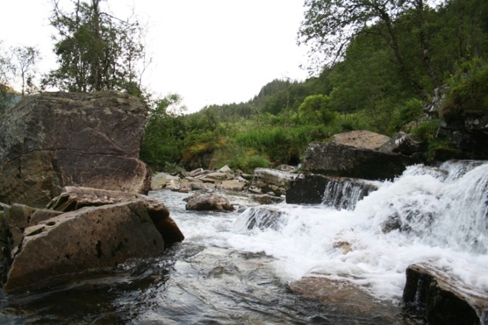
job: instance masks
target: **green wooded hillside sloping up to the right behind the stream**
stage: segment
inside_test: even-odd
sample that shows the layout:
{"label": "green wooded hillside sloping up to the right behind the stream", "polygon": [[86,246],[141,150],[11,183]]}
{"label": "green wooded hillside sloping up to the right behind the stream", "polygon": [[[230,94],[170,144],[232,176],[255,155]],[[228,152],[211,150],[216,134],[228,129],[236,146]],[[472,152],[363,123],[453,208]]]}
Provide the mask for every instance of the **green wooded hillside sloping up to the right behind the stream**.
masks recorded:
{"label": "green wooded hillside sloping up to the right behind the stream", "polygon": [[[305,8],[298,41],[312,49],[313,77],[273,80],[246,103],[189,115],[178,114],[177,101],[160,102],[142,158],[157,170],[227,164],[250,172],[296,165],[310,142],[349,130],[390,136],[404,130],[430,149],[450,146],[434,139],[440,119],[407,125],[437,87],[459,89],[488,75],[488,3],[307,0]],[[488,82],[476,84],[463,100],[480,98],[488,109]]]}

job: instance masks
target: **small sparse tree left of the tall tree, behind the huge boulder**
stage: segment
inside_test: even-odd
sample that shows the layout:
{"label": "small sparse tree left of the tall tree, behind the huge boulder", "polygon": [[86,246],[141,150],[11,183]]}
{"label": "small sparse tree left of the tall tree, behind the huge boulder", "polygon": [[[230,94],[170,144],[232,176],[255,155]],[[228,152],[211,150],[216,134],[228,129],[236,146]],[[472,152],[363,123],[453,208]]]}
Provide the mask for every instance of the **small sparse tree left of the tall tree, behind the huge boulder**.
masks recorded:
{"label": "small sparse tree left of the tall tree, behind the huge boulder", "polygon": [[39,50],[35,47],[14,47],[13,56],[15,57],[15,63],[13,63],[14,75],[20,75],[22,80],[21,93],[22,96],[25,93],[32,93],[35,91],[33,80],[36,77],[36,63],[39,59]]}

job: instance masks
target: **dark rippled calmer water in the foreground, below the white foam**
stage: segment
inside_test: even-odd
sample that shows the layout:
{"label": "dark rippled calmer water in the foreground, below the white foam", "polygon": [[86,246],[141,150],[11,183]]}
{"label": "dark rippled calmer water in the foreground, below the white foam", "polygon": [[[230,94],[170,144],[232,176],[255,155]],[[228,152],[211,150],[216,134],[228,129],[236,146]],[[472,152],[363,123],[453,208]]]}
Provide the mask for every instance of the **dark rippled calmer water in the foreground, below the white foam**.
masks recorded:
{"label": "dark rippled calmer water in the foreground, below the white foam", "polygon": [[[406,324],[289,292],[273,258],[184,243],[50,292],[2,296],[1,324]],[[397,310],[399,311],[399,310]]]}

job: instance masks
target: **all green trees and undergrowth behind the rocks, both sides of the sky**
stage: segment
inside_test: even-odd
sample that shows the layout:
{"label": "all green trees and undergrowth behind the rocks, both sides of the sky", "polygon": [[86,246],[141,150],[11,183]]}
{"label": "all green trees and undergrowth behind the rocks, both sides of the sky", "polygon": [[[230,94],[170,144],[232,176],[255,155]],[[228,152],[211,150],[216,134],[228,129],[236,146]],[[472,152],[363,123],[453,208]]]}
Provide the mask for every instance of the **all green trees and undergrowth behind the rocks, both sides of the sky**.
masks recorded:
{"label": "all green trees and undergrowth behind the rocks, both sides of the sky", "polygon": [[[297,43],[310,48],[310,77],[270,80],[245,103],[193,114],[186,114],[180,94],[155,96],[140,83],[146,62],[137,22],[100,15],[100,0],[73,1],[73,13],[52,3],[59,68],[35,86],[29,76],[36,50],[16,49],[22,94],[50,85],[144,98],[150,113],[140,158],[154,172],[298,165],[310,142],[349,130],[403,131],[429,150],[449,147],[435,138],[442,117],[455,119],[470,105],[488,109],[484,0],[305,0]],[[0,53],[0,114],[11,101],[6,71],[13,68]],[[420,119],[434,89],[445,86],[439,119]]]}

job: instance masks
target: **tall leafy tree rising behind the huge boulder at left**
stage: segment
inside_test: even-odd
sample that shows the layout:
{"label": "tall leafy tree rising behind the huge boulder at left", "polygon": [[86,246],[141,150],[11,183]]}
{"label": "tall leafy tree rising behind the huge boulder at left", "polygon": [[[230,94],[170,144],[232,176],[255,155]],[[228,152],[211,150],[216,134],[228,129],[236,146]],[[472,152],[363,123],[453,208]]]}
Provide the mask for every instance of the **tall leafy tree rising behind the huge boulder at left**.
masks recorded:
{"label": "tall leafy tree rising behind the huge boulder at left", "polygon": [[137,67],[146,64],[142,27],[137,20],[123,21],[105,13],[100,1],[72,0],[74,10],[66,13],[59,0],[52,0],[50,22],[59,33],[54,37],[59,68],[45,77],[43,85],[77,92],[113,89],[141,96],[142,73]]}

